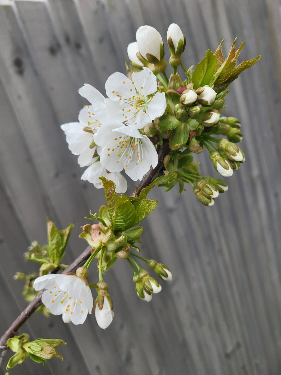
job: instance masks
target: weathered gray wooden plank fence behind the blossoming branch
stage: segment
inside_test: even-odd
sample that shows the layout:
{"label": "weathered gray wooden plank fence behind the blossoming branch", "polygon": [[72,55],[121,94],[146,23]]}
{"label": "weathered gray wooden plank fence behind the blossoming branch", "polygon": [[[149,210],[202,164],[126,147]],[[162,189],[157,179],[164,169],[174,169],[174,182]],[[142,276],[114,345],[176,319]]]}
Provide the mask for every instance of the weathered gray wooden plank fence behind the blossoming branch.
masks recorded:
{"label": "weathered gray wooden plank fence behind the blossoming branch", "polygon": [[[32,240],[46,242],[46,216],[59,228],[75,223],[70,262],[86,245],[84,216],[104,201],[80,180],[60,130],[85,104],[78,88],[103,92],[109,74],[124,72],[136,29],[149,24],[165,39],[172,22],[187,36],[187,66],[223,38],[225,52],[237,36],[243,58],[262,54],[226,102],[226,115],[241,119],[247,161],[212,208],[188,186],[182,196],[155,188],[142,254],[166,263],[173,281],[144,303],[129,264],[118,261],[105,275],[111,326],[103,331],[94,316],[82,326],[33,316],[22,332],[64,339],[64,361],[28,359],[10,374],[281,374],[278,0],[0,0],[0,332],[26,305],[13,275],[34,269],[22,254]],[[199,159],[215,175],[206,155]]]}

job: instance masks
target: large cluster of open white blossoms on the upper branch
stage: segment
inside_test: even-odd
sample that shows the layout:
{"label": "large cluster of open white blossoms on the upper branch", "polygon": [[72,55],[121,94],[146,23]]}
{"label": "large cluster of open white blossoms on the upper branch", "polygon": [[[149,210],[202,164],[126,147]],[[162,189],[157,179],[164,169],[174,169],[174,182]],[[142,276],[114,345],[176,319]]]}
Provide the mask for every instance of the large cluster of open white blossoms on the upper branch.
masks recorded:
{"label": "large cluster of open white blossoms on the upper branch", "polygon": [[165,94],[157,92],[157,78],[148,68],[134,72],[132,80],[120,72],[109,76],[105,98],[97,89],[84,84],[79,94],[90,105],[79,112],[78,122],[61,125],[73,154],[81,167],[88,166],[82,180],[102,187],[99,177],[114,181],[118,193],[127,190],[124,169],[132,180],[158,162],[154,144],[142,128],[166,109]]}

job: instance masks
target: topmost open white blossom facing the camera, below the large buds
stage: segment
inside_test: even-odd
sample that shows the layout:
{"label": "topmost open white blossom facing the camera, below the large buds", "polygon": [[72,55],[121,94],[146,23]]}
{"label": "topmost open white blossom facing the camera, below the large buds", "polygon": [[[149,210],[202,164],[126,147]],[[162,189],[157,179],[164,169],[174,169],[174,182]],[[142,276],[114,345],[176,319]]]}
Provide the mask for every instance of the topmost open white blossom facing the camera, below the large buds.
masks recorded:
{"label": "topmost open white blossom facing the camera, below the large buds", "polygon": [[105,83],[105,104],[116,120],[124,123],[151,122],[166,109],[165,93],[157,92],[157,78],[148,68],[133,72],[132,81],[115,72]]}

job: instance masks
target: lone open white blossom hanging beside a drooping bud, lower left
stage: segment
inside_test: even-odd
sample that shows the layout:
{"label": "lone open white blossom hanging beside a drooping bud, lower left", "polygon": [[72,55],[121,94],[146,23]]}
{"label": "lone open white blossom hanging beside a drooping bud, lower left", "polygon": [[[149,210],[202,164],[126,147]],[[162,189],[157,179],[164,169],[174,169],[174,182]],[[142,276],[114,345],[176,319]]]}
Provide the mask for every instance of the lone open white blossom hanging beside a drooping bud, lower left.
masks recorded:
{"label": "lone open white blossom hanging beside a drooping bud, lower left", "polygon": [[64,323],[82,324],[91,314],[93,296],[84,279],[76,275],[44,275],[34,281],[35,290],[46,289],[43,304],[54,315],[63,315]]}

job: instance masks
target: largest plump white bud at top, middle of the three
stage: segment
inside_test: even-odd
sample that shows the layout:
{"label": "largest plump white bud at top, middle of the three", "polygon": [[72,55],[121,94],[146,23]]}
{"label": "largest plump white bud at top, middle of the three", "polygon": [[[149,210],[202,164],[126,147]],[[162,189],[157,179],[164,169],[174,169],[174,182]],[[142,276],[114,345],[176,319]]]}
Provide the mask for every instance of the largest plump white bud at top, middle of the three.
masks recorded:
{"label": "largest plump white bud at top, middle of the three", "polygon": [[163,59],[163,40],[154,27],[147,25],[139,27],[136,32],[136,40],[139,52],[150,63],[155,64]]}

